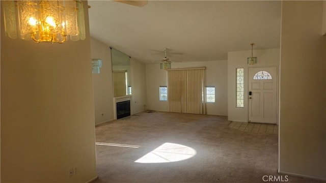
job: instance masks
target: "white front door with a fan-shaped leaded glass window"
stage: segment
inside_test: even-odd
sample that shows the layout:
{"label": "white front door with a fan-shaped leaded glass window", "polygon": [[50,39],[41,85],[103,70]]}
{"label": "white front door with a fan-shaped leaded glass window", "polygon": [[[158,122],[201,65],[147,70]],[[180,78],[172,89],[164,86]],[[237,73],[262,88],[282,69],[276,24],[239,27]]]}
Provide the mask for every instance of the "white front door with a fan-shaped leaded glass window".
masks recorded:
{"label": "white front door with a fan-shaped leaded glass window", "polygon": [[249,68],[249,122],[277,123],[277,68]]}

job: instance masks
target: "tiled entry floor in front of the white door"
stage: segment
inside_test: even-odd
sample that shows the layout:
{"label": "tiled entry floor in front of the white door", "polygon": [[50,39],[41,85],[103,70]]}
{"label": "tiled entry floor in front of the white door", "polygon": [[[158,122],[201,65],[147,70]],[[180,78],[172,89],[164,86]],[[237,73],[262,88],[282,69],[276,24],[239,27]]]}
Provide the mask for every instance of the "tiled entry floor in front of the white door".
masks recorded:
{"label": "tiled entry floor in front of the white door", "polygon": [[258,132],[258,133],[267,133],[267,134],[279,134],[279,126],[274,124],[260,124],[260,123],[242,123],[231,121],[229,127],[247,131],[247,132]]}

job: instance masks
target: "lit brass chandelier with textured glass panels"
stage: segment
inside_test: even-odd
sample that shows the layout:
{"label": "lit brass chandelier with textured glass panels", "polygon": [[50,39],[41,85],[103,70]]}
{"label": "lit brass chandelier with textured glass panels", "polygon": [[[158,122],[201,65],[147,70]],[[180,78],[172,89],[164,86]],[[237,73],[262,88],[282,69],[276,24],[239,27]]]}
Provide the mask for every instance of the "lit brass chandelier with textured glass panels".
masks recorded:
{"label": "lit brass chandelier with textured glass panels", "polygon": [[64,43],[85,40],[81,1],[2,1],[9,38]]}

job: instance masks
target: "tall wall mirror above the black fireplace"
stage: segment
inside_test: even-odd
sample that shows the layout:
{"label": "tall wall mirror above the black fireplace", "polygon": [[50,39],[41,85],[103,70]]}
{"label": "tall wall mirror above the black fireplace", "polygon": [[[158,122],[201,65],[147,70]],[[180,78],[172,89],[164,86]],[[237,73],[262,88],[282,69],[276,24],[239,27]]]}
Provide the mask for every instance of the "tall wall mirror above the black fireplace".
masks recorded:
{"label": "tall wall mirror above the black fireplace", "polygon": [[114,97],[131,95],[130,56],[111,48],[111,60]]}

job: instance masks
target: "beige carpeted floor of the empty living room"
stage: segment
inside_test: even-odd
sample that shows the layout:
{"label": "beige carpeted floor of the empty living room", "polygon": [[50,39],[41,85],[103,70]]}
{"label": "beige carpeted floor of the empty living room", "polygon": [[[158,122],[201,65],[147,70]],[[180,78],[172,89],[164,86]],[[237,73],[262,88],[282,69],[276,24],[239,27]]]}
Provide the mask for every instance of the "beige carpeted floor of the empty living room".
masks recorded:
{"label": "beige carpeted floor of the empty living room", "polygon": [[[101,124],[94,182],[264,182],[269,175],[283,182],[322,182],[278,174],[278,135],[240,131],[229,123],[225,116],[142,112]],[[175,146],[157,150],[162,144]],[[188,159],[176,161],[181,155]],[[135,162],[142,157],[166,163]]]}

